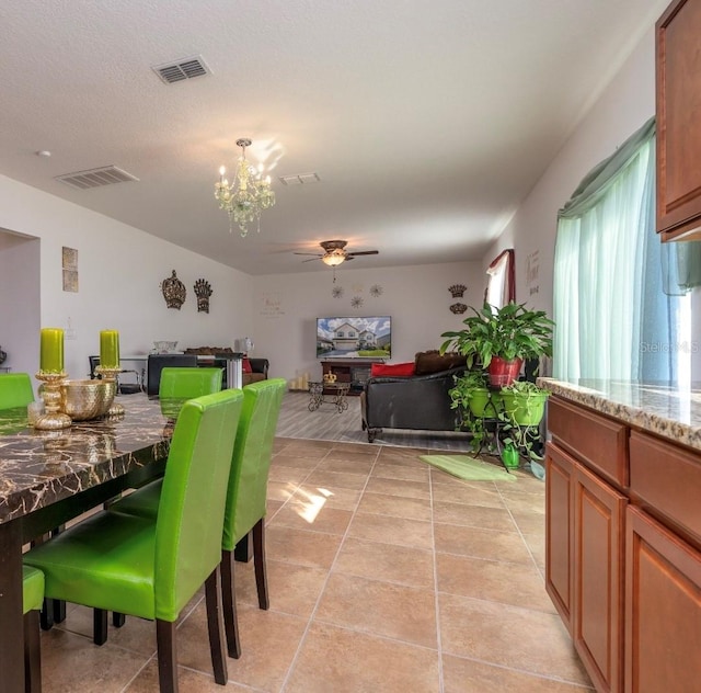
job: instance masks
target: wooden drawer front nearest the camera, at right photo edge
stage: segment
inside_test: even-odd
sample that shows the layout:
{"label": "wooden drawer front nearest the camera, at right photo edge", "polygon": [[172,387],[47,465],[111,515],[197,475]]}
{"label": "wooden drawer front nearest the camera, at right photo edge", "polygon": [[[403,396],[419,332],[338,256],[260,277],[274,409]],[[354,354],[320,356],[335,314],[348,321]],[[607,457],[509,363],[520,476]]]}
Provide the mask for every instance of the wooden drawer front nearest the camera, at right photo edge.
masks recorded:
{"label": "wooden drawer front nearest the camera, at right photo edge", "polygon": [[701,455],[631,433],[631,492],[701,544]]}

